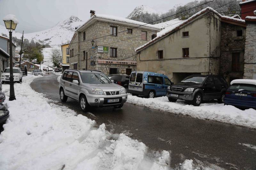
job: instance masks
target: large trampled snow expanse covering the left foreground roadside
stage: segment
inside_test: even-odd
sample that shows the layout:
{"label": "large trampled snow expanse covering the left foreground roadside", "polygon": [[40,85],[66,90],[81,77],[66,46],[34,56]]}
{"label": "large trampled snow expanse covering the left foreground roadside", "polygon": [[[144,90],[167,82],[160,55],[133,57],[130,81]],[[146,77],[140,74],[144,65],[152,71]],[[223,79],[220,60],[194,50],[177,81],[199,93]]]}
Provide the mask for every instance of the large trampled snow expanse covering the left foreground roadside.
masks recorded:
{"label": "large trampled snow expanse covering the left foreground roadside", "polygon": [[[0,169],[169,169],[169,152],[147,156],[145,144],[110,134],[105,124],[47,103],[31,89],[33,75],[15,83],[14,101],[5,100],[10,118],[0,134]],[[9,85],[3,85],[8,99]]]}

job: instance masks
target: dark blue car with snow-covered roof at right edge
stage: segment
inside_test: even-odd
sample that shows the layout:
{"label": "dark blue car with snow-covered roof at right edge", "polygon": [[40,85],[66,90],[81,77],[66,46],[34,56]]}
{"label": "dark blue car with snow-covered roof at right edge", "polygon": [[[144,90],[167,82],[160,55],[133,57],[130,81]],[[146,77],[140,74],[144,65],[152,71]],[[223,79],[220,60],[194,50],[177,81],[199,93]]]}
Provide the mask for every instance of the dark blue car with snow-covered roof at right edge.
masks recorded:
{"label": "dark blue car with snow-covered roof at right edge", "polygon": [[256,80],[236,79],[231,81],[224,104],[256,109]]}

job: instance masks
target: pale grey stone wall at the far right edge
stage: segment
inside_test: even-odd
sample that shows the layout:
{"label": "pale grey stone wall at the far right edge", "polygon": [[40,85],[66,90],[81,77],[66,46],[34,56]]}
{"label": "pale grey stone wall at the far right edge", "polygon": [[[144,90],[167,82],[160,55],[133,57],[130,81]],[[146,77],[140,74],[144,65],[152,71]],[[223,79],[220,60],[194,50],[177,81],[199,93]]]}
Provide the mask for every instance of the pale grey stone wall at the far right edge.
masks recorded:
{"label": "pale grey stone wall at the far right edge", "polygon": [[256,22],[246,27],[244,78],[256,79]]}

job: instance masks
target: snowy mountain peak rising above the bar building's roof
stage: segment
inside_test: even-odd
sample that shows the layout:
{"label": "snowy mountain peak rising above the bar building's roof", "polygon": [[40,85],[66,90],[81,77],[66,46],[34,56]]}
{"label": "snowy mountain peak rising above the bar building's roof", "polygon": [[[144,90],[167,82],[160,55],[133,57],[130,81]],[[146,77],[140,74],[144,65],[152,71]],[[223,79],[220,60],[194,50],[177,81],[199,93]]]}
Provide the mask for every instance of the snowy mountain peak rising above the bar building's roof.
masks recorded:
{"label": "snowy mountain peak rising above the bar building's roof", "polygon": [[141,14],[149,13],[149,14],[161,14],[166,11],[156,11],[153,8],[149,7],[148,5],[140,5],[137,6],[126,18],[132,19],[135,18]]}

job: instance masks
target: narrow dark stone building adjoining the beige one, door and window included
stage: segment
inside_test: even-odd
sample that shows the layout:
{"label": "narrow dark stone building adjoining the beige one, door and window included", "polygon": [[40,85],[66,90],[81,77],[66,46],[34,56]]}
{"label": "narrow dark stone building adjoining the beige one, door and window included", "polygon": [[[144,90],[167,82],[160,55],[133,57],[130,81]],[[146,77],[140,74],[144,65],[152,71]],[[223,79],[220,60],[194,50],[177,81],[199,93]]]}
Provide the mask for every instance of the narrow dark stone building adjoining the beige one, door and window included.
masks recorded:
{"label": "narrow dark stone building adjoining the beige one, door and window included", "polygon": [[220,72],[228,84],[242,79],[244,74],[244,45],[246,24],[244,20],[222,17],[220,41]]}

